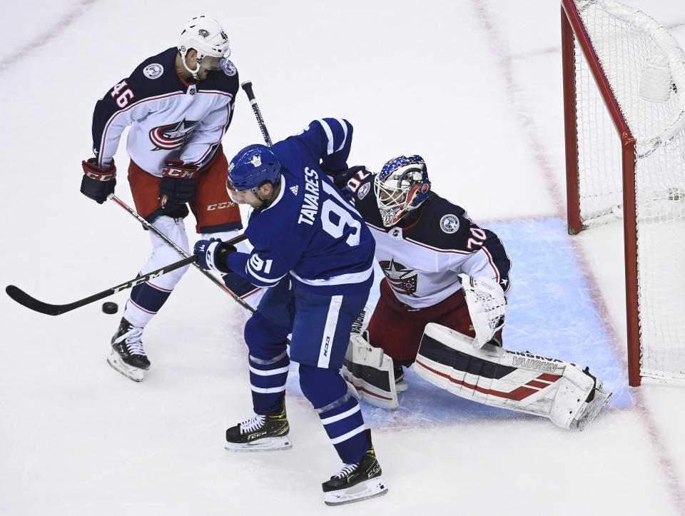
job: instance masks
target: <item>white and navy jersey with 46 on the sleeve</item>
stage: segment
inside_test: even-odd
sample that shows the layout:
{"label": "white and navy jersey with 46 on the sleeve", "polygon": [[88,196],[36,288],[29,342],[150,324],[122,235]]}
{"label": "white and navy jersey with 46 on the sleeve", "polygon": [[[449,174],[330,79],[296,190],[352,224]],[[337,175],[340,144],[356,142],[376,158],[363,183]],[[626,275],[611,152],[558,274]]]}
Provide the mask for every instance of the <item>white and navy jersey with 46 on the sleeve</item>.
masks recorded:
{"label": "white and navy jersey with 46 on the sleeve", "polygon": [[169,159],[201,167],[213,158],[233,117],[238,72],[231,64],[188,84],[176,72],[177,52],[173,47],[146,59],[96,103],[98,166],[111,163],[127,126],[128,156],[153,176],[161,176]]}

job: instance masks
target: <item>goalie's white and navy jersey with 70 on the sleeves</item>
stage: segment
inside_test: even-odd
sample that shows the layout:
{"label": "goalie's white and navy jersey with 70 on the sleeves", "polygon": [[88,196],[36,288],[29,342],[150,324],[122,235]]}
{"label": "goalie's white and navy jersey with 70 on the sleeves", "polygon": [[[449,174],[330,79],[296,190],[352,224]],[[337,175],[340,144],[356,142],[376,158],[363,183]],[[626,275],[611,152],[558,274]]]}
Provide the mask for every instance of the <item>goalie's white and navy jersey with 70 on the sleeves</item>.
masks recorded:
{"label": "goalie's white and navy jersey with 70 on the sleeves", "polygon": [[406,227],[385,228],[373,191],[374,174],[360,171],[347,181],[352,202],[376,241],[375,256],[401,303],[426,308],[462,285],[457,274],[488,278],[509,290],[512,266],[502,241],[474,223],[460,206],[432,193]]}

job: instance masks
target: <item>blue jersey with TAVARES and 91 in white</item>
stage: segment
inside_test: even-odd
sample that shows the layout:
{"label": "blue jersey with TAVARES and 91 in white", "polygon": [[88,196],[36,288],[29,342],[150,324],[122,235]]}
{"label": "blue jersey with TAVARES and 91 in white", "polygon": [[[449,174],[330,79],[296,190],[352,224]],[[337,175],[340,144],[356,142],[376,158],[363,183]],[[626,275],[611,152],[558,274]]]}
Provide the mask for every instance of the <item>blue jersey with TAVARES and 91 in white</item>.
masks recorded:
{"label": "blue jersey with TAVARES and 91 in white", "polygon": [[324,118],[271,147],[281,164],[280,193],[251,213],[245,234],[254,249],[230,254],[232,270],[260,287],[290,274],[296,285],[325,295],[370,288],[373,237],[319,166],[345,168],[351,139],[349,122]]}

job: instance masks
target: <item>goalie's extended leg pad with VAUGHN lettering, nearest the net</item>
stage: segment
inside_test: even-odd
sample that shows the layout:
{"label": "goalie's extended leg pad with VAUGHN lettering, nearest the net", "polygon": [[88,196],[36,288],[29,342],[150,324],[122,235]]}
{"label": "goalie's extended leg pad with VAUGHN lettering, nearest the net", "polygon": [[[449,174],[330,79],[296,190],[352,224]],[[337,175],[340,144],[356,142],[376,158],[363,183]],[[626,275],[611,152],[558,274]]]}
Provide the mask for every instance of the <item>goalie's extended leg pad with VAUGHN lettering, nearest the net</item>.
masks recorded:
{"label": "goalie's extended leg pad with VAUGHN lettering, nearest the net", "polygon": [[582,430],[611,397],[577,365],[491,344],[474,348],[473,340],[426,325],[417,374],[462,398],[541,415],[562,428]]}

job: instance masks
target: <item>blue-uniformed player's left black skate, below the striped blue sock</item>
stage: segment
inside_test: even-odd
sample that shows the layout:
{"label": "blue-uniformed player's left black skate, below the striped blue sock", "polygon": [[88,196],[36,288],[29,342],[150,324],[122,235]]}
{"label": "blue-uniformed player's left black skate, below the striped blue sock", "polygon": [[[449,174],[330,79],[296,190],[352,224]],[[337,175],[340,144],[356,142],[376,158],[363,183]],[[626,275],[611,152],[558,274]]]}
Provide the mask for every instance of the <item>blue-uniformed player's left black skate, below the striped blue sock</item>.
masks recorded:
{"label": "blue-uniformed player's left black skate, below the striped blue sock", "polygon": [[285,403],[281,402],[280,410],[238,423],[226,430],[226,450],[264,451],[288,450],[293,442],[288,437],[290,425],[285,415]]}

